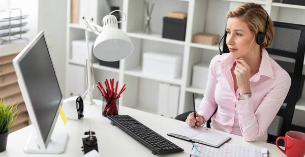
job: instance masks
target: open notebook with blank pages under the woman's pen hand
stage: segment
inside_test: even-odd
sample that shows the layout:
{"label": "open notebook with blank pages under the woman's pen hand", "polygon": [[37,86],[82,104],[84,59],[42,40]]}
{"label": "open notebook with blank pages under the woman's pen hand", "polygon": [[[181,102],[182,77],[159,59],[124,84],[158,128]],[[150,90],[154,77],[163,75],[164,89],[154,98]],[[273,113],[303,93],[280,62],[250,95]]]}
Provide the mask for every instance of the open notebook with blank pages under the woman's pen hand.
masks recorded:
{"label": "open notebook with blank pages under the woman's pen hand", "polygon": [[167,135],[213,147],[219,147],[231,139],[226,133],[203,127],[197,127],[196,130],[189,125],[182,125],[181,127],[170,131]]}

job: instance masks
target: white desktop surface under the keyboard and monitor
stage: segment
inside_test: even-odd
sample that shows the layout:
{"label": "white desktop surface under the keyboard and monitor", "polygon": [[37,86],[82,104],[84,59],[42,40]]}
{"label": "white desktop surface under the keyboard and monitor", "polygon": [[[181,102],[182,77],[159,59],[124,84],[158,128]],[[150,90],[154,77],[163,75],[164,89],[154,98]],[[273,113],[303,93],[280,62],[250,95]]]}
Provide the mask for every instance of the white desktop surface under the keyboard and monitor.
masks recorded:
{"label": "white desktop surface under the keyboard and monitor", "polygon": [[[119,107],[119,114],[129,114],[141,123],[145,124],[148,128],[156,131],[164,136],[171,142],[185,149],[183,152],[153,155],[151,150],[142,145],[140,142],[132,138],[129,134],[110,124],[110,120],[102,116],[101,102],[96,105],[84,107],[84,118],[81,120],[69,120],[65,126],[62,119],[58,117],[54,132],[67,132],[69,133],[69,141],[66,152],[63,154],[27,154],[23,152],[23,147],[27,141],[28,136],[35,132],[34,127],[29,125],[19,131],[11,133],[8,137],[7,150],[0,153],[2,156],[82,156],[81,151],[82,141],[81,138],[89,127],[92,131],[96,132],[98,138],[99,153],[101,156],[190,156],[192,149],[191,142],[180,140],[177,138],[169,137],[166,134],[171,129],[180,127],[184,124],[183,121],[170,119],[155,114],[146,113],[143,111]],[[264,142],[246,142],[242,137],[230,134],[232,139],[228,143],[242,144],[252,147],[267,148],[269,156],[280,157],[285,156],[276,145]]]}

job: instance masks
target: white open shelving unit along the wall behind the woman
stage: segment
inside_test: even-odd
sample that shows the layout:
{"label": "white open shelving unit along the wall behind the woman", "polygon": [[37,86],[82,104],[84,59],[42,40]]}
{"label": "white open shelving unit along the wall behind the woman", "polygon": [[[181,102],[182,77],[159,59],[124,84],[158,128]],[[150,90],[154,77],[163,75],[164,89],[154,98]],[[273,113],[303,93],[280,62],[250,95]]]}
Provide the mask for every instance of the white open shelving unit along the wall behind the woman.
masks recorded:
{"label": "white open shelving unit along the wall behind the woman", "polygon": [[[204,95],[204,89],[192,86],[192,67],[199,62],[209,63],[212,57],[219,54],[219,47],[218,44],[204,45],[192,43],[192,35],[204,32],[217,34],[221,39],[225,32],[226,14],[236,5],[243,2],[262,4],[272,20],[305,24],[305,20],[300,21],[301,15],[305,15],[304,6],[280,4],[272,2],[272,0],[149,0],[148,2],[155,3],[155,9],[151,15],[151,29],[153,30],[151,34],[142,32],[146,18],[143,8],[144,0],[108,1],[110,5],[119,6],[120,10],[127,15],[127,20],[121,23],[121,29],[131,38],[134,51],[128,58],[120,61],[119,69],[99,66],[98,63],[94,64],[94,68],[97,71],[103,71],[103,77],[105,78],[108,77],[109,73],[114,73],[121,85],[126,83],[127,88],[124,94],[121,95],[119,100],[120,105],[154,114],[158,112],[158,84],[160,82],[180,87],[177,114],[192,110],[191,93]],[[70,23],[70,1],[68,1],[68,6],[67,44],[71,45],[72,40],[84,39],[84,28],[78,24]],[[282,17],[282,15],[286,14],[287,8],[289,8],[289,11],[291,9],[301,10]],[[162,38],[163,17],[166,16],[167,12],[171,11],[188,12],[185,41]],[[289,16],[295,17],[296,15],[300,18],[289,18]],[[96,38],[96,36],[92,36],[92,38]],[[221,49],[222,45],[221,43]],[[182,55],[181,76],[176,79],[164,79],[162,76],[152,77],[144,75],[142,72],[142,55],[147,51],[170,51]],[[68,59],[70,58],[70,52],[70,46],[68,46]],[[67,62],[84,66],[84,64],[71,60],[67,60]],[[298,102],[299,105],[302,103],[305,104],[304,101]],[[305,110],[305,107],[302,105],[296,108]]]}

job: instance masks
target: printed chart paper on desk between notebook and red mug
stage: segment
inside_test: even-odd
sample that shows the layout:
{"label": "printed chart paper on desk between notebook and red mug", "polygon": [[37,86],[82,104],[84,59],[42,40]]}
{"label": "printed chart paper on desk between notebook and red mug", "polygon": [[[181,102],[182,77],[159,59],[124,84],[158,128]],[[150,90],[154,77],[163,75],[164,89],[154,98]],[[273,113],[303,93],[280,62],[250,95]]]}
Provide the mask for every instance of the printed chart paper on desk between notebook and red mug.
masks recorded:
{"label": "printed chart paper on desk between notebook and red mug", "polygon": [[192,156],[198,157],[261,157],[263,152],[267,152],[267,149],[246,147],[237,144],[225,143],[219,148],[210,147],[200,143],[195,143],[198,152],[193,148]]}

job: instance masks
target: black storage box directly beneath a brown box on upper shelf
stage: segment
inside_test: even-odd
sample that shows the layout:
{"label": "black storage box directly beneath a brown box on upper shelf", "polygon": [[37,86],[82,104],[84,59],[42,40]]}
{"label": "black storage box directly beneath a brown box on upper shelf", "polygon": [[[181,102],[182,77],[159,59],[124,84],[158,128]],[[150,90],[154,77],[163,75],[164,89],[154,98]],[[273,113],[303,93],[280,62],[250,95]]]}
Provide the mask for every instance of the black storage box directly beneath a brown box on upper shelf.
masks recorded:
{"label": "black storage box directly beneath a brown box on upper shelf", "polygon": [[162,38],[185,41],[187,19],[163,18]]}

